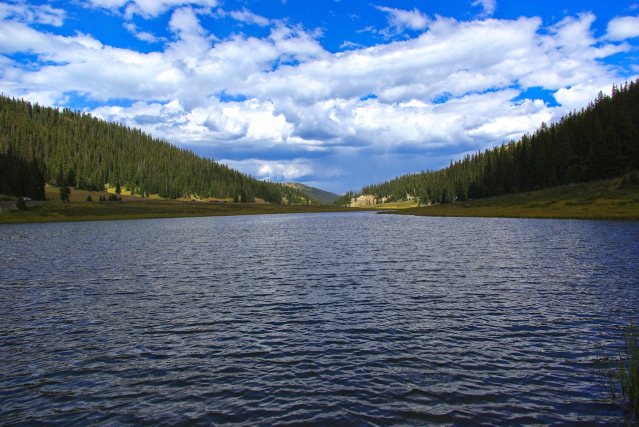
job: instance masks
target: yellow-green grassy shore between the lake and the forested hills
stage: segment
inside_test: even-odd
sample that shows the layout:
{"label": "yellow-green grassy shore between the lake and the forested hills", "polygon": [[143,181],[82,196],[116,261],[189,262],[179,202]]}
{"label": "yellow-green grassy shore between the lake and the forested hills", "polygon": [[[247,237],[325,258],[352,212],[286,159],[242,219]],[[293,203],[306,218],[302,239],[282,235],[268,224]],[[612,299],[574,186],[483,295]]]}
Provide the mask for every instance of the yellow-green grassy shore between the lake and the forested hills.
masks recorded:
{"label": "yellow-green grassy shore between the lake and the forested hills", "polygon": [[[415,202],[380,204],[366,207],[208,203],[203,200],[157,200],[122,195],[121,202],[85,202],[91,195],[98,200],[107,192],[72,190],[72,201],[59,200],[58,189],[47,186],[48,202],[29,202],[26,211],[13,202],[0,203],[0,223],[55,221],[135,220],[192,216],[256,215],[278,213],[321,213],[380,211],[387,214],[419,216],[466,216],[491,218],[557,218],[583,220],[637,220],[639,188],[624,188],[621,179],[596,181],[547,188],[531,193],[489,199],[415,207]],[[74,201],[75,200],[75,201]],[[391,210],[392,209],[392,210]]]}

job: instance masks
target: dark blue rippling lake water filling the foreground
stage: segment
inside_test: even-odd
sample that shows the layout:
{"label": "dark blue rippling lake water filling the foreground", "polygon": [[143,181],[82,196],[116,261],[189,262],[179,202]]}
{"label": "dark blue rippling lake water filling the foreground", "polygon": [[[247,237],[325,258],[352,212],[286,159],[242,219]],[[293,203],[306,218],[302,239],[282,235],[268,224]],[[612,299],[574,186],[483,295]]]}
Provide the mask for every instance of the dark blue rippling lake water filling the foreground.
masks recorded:
{"label": "dark blue rippling lake water filling the foreground", "polygon": [[0,225],[0,424],[615,425],[639,223]]}

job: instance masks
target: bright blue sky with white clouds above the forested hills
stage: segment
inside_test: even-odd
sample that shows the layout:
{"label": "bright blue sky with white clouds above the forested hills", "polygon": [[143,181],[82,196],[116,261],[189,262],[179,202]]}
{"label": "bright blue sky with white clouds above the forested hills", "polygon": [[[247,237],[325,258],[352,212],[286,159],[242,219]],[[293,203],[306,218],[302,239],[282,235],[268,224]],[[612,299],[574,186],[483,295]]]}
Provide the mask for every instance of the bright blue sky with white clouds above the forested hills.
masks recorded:
{"label": "bright blue sky with white clouds above the forested hills", "polygon": [[0,1],[0,91],[341,193],[440,169],[639,75],[639,3]]}

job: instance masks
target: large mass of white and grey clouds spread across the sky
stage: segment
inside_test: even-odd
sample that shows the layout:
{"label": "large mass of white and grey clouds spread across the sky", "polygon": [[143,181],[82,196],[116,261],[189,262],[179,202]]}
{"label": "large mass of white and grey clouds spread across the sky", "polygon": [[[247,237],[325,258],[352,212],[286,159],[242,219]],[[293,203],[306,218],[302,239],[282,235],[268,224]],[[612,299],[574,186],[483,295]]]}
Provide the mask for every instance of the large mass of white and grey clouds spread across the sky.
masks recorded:
{"label": "large mass of white and grey clouds spread across the sky", "polygon": [[[173,7],[167,22],[173,37],[162,50],[144,54],[88,34],[38,31],[30,26],[33,18],[5,13],[0,91],[49,105],[82,96],[102,105],[90,109],[96,116],[206,147],[232,167],[286,181],[311,174],[317,182],[346,179],[361,159],[370,159],[357,166],[362,170],[396,165],[401,173],[417,172],[435,167],[424,163],[428,159],[441,157],[446,165],[451,152],[518,139],[619,82],[601,58],[630,49],[613,41],[634,34],[619,18],[605,40],[597,39],[588,13],[544,27],[539,18],[459,21],[379,8],[396,29],[419,30],[419,36],[366,48],[351,44],[332,54],[317,33],[267,23],[248,10],[231,17],[270,26],[268,36],[218,40],[201,22],[217,11],[180,1],[93,4],[135,7],[149,16]],[[127,22],[128,31],[146,37]],[[148,41],[157,39],[149,34]],[[37,60],[9,59],[19,52]],[[520,99],[531,87],[553,93],[560,105]],[[130,100],[128,106],[111,105],[121,99]],[[369,179],[358,185],[375,182]]]}

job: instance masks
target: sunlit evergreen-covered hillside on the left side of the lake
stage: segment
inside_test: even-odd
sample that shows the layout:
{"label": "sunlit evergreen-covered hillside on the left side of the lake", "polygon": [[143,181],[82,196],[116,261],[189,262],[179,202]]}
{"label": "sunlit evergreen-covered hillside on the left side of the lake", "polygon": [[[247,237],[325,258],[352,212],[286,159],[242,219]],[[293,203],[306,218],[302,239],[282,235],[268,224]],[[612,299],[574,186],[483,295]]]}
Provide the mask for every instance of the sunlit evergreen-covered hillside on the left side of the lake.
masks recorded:
{"label": "sunlit evergreen-covered hillside on the left side of the lake", "polygon": [[259,181],[139,129],[1,95],[0,193],[42,200],[45,183],[92,191],[110,184],[167,199],[318,203],[300,190]]}

